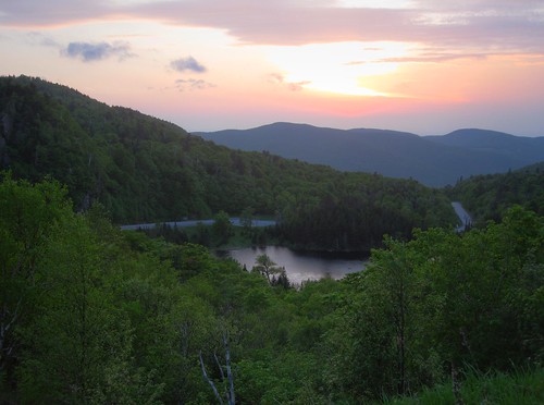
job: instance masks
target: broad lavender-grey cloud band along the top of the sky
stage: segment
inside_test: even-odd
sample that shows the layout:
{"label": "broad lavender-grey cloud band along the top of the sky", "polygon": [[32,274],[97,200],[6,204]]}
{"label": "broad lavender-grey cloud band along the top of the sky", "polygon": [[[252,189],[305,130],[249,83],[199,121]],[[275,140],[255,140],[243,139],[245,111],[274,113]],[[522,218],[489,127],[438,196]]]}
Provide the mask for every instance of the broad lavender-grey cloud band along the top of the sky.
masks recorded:
{"label": "broad lavender-grey cloud band along the top of the sky", "polygon": [[542,0],[412,0],[409,3],[409,8],[379,9],[337,7],[338,2],[333,0],[123,3],[17,0],[2,2],[0,25],[54,26],[122,15],[176,26],[218,28],[242,44],[252,45],[390,40],[458,48],[463,52],[544,53]]}

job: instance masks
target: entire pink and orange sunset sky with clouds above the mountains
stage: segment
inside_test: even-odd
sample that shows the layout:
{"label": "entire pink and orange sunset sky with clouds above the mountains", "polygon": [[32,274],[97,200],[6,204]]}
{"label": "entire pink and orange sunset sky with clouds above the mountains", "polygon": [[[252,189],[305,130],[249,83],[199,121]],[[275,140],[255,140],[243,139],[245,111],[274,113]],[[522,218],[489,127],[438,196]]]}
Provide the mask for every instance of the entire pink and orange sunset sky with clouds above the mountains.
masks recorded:
{"label": "entire pink and orange sunset sky with clouds above the mountains", "polygon": [[544,0],[0,0],[0,75],[189,132],[544,136]]}

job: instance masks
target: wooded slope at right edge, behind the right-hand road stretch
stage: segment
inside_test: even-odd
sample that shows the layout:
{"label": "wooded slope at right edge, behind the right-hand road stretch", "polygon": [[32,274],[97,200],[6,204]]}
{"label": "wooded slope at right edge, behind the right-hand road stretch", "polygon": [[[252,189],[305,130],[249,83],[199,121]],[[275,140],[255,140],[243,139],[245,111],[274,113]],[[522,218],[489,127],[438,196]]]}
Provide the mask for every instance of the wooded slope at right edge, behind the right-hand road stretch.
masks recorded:
{"label": "wooded slope at right edge, behind the right-hand road stretch", "polygon": [[544,214],[544,162],[504,174],[474,175],[446,189],[480,223],[499,221],[515,205]]}

